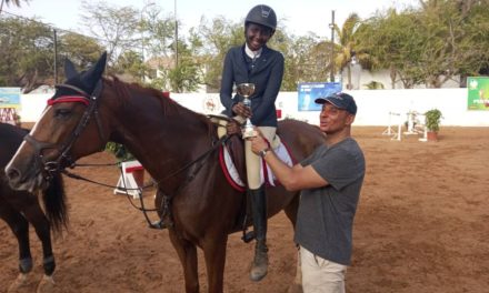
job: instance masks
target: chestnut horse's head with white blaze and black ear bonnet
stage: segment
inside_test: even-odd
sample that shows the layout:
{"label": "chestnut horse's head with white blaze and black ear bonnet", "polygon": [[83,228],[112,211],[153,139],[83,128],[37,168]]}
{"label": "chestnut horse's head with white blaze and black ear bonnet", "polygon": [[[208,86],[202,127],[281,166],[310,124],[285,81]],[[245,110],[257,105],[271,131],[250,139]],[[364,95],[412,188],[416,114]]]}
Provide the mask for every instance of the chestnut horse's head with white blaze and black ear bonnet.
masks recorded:
{"label": "chestnut horse's head with white blaze and black ear bonnet", "polygon": [[33,191],[77,159],[103,148],[108,130],[98,109],[107,53],[89,70],[64,63],[66,82],[54,95],[6,168],[10,185]]}

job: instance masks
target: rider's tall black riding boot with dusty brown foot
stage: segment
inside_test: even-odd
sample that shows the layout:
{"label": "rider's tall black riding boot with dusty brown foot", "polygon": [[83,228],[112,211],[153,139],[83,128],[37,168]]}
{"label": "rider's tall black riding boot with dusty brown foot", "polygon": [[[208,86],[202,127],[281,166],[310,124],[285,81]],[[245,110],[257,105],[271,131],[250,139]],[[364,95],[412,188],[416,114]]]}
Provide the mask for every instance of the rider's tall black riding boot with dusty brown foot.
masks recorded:
{"label": "rider's tall black riding boot with dusty brown foot", "polygon": [[250,190],[253,230],[257,239],[255,259],[251,263],[250,280],[260,281],[267,275],[268,247],[267,247],[267,196],[265,186]]}

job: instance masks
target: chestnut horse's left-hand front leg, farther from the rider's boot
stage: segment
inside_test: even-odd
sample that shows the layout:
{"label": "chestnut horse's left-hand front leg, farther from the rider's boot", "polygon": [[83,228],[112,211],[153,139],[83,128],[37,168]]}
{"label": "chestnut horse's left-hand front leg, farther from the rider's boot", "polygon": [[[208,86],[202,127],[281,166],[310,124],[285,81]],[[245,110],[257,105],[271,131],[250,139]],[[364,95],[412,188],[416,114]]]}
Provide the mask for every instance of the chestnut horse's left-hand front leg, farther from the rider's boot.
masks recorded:
{"label": "chestnut horse's left-hand front leg, farther from the rider's boot", "polygon": [[177,235],[174,230],[170,230],[170,241],[177,250],[178,257],[183,266],[183,275],[186,280],[186,292],[199,292],[199,275],[197,267],[197,246],[190,241],[183,240]]}

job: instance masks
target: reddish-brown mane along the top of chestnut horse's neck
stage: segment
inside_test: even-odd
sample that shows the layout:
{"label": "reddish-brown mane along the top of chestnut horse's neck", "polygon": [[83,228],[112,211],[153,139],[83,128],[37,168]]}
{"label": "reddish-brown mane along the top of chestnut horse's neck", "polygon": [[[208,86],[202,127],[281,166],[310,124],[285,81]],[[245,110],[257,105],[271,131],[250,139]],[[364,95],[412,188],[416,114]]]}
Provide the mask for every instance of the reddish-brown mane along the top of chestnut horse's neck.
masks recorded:
{"label": "reddish-brown mane along the top of chestnut horse's neck", "polygon": [[141,95],[149,95],[154,99],[158,99],[158,101],[161,104],[163,115],[168,115],[170,113],[177,113],[180,115],[181,114],[193,115],[198,121],[200,121],[201,123],[203,123],[206,125],[206,128],[209,131],[209,137],[217,135],[216,128],[213,127],[212,122],[210,121],[210,119],[208,117],[200,114],[200,113],[197,113],[197,112],[193,112],[192,110],[180,105],[173,99],[171,99],[169,97],[168,98],[164,97],[162,91],[158,91],[153,88],[142,87],[136,82],[128,83],[128,82],[120,80],[116,75],[110,75],[109,78],[104,78],[103,80],[109,84],[109,87],[113,88],[113,90],[116,91],[116,94],[122,101],[123,105],[130,100],[130,98],[131,98],[130,92],[137,91],[137,92],[140,92]]}

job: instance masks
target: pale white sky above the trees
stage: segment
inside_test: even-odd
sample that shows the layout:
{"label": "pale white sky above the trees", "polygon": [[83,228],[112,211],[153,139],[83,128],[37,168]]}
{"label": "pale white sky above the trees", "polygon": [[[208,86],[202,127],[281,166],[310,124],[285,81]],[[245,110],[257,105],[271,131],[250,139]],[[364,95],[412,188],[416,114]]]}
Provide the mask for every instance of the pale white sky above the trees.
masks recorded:
{"label": "pale white sky above the trees", "polygon": [[[279,24],[285,26],[288,33],[305,36],[315,32],[325,38],[331,34],[329,29],[331,10],[335,10],[335,22],[341,26],[352,12],[366,19],[377,10],[383,11],[392,7],[402,9],[419,3],[418,0],[106,0],[106,2],[113,7],[131,6],[137,9],[142,9],[148,3],[156,3],[162,8],[164,14],[173,16],[176,11],[179,22],[183,26],[180,28],[183,34],[191,27],[197,27],[202,16],[208,20],[223,16],[232,22],[238,22],[243,20],[256,4],[268,4],[273,8]],[[81,0],[29,0],[28,3],[21,1],[21,8],[3,7],[3,11],[27,18],[36,16],[59,29],[80,31],[81,3]]]}

